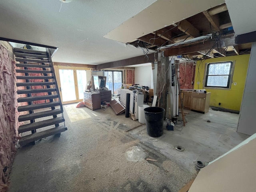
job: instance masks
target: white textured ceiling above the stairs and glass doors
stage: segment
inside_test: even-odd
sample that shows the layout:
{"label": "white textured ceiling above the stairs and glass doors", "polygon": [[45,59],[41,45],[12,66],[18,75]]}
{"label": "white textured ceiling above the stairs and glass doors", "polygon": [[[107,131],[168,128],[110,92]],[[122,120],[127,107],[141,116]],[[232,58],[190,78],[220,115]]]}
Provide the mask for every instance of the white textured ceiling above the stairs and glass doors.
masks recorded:
{"label": "white textured ceiling above the stairs and glass doors", "polygon": [[140,49],[103,36],[155,1],[1,0],[0,37],[56,46],[55,62],[100,64],[139,56]]}

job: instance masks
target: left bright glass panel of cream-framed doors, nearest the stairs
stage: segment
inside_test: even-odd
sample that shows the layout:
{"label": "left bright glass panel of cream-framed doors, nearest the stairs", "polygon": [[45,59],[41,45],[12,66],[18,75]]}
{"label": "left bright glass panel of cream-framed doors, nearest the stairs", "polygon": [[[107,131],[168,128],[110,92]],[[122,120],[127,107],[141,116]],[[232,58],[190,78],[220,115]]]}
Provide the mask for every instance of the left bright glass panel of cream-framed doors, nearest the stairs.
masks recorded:
{"label": "left bright glass panel of cream-framed doors, nearest the stairs", "polygon": [[62,102],[76,101],[74,71],[72,69],[59,69],[59,74]]}

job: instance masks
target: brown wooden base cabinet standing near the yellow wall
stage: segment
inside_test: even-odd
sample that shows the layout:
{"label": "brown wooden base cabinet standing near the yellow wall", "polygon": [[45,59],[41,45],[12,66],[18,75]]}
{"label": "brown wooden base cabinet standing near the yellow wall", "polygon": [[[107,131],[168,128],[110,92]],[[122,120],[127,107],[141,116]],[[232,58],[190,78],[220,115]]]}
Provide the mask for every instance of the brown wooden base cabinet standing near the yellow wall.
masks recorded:
{"label": "brown wooden base cabinet standing near the yellow wall", "polygon": [[209,111],[211,92],[183,92],[184,108],[207,113]]}

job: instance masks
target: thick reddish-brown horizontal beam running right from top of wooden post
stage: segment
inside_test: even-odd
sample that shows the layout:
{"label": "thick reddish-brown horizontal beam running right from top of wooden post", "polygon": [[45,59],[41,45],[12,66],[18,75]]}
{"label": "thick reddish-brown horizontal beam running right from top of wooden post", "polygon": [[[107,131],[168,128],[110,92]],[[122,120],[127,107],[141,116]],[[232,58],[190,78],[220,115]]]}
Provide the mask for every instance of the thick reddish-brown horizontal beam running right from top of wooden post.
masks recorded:
{"label": "thick reddish-brown horizontal beam running right from top of wooden post", "polygon": [[[229,36],[226,36],[225,38],[220,38],[220,44],[225,46],[231,46],[234,45],[234,34],[230,34]],[[210,50],[211,48],[216,49],[218,46],[216,44],[216,40],[208,40],[204,42],[200,42],[198,44],[190,44],[188,46],[179,47],[179,48],[166,48],[164,50],[164,56],[174,56],[174,55],[184,55],[184,54],[190,54],[194,52],[198,52],[200,50]]]}

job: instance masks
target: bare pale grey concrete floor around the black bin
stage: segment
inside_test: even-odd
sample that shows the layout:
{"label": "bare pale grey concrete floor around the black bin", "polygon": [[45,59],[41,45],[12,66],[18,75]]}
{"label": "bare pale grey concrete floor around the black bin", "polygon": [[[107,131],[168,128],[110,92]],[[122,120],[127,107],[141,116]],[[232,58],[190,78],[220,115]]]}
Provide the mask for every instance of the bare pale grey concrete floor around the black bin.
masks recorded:
{"label": "bare pale grey concrete floor around the black bin", "polygon": [[[164,129],[159,138],[148,136],[146,125],[129,133],[192,173],[196,161],[207,164],[249,137],[236,132],[238,114],[211,109],[206,114],[185,111],[189,113],[186,126],[181,127],[182,121],[178,121],[174,131]],[[184,151],[176,150],[175,146],[182,146]]]}

